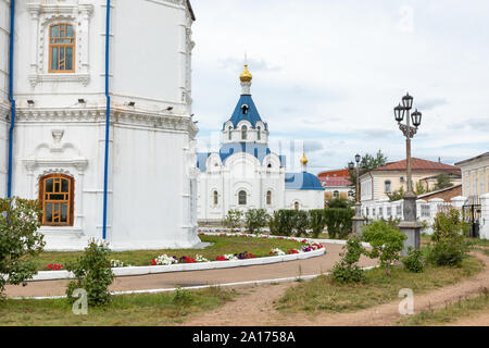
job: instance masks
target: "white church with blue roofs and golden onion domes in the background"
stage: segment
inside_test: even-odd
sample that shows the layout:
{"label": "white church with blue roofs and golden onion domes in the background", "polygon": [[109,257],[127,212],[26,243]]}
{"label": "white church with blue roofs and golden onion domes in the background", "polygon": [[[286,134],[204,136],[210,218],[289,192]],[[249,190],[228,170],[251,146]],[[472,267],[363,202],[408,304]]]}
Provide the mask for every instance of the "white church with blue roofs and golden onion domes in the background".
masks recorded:
{"label": "white church with blue roofs and golden onion domes in the background", "polygon": [[302,172],[287,173],[285,157],[269,150],[268,125],[251,98],[248,65],[239,78],[241,96],[223,125],[220,151],[197,153],[199,222],[221,223],[231,209],[263,208],[272,213],[324,208],[324,189],[317,176],[305,171],[305,154]]}

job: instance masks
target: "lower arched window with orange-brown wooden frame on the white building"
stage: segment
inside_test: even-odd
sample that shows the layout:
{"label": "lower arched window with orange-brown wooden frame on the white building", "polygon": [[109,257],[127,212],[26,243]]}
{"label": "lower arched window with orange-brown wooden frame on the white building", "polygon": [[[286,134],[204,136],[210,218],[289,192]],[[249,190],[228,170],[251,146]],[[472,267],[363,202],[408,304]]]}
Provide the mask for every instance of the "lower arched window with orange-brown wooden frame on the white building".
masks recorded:
{"label": "lower arched window with orange-brown wooden frame on the white building", "polygon": [[50,174],[39,179],[42,225],[73,226],[75,181],[64,174]]}

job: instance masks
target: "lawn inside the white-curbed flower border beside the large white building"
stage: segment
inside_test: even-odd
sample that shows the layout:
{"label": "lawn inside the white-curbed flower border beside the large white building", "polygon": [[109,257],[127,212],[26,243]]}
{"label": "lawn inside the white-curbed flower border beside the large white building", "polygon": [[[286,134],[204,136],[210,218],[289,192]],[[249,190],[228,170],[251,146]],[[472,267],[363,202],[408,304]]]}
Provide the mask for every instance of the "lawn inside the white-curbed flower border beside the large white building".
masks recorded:
{"label": "lawn inside the white-curbed flower border beside the large white building", "polygon": [[[213,243],[204,249],[163,249],[163,250],[134,250],[112,252],[111,259],[117,259],[124,264],[148,265],[149,261],[155,257],[166,253],[170,257],[180,258],[183,256],[195,257],[201,254],[210,261],[215,257],[227,253],[251,252],[256,258],[269,256],[273,248],[280,248],[285,252],[289,249],[301,248],[302,244],[293,240],[277,238],[244,238],[244,237],[224,237],[224,236],[199,236],[202,241]],[[75,261],[83,252],[42,252],[33,260],[36,262],[37,270],[42,271],[49,264],[66,265],[70,261]]]}

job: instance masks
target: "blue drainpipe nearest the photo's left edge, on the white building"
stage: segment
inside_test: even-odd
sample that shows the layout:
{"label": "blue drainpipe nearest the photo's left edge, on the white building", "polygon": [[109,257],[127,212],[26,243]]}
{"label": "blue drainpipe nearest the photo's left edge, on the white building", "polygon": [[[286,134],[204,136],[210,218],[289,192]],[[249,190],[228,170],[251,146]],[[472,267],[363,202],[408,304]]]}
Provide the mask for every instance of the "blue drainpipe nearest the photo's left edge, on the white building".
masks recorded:
{"label": "blue drainpipe nearest the photo's left edge, on the white building", "polygon": [[15,0],[10,1],[10,57],[9,57],[9,101],[12,104],[12,116],[9,129],[9,174],[7,182],[7,197],[12,197],[12,152],[13,132],[15,128],[15,99],[13,98],[13,51],[14,51],[14,25],[15,25]]}

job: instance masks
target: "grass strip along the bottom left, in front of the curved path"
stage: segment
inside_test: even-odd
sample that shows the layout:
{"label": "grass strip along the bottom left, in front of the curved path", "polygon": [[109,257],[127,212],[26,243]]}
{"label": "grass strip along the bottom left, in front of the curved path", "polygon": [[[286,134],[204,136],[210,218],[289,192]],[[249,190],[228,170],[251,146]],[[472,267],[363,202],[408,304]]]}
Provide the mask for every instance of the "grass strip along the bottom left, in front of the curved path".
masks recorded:
{"label": "grass strip along the bottom left, in front of the curved path", "polygon": [[88,308],[87,315],[75,315],[66,299],[0,300],[0,325],[172,325],[184,322],[189,313],[213,310],[238,295],[218,287],[180,291],[184,296],[172,293],[113,296],[106,306]]}

